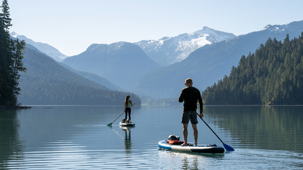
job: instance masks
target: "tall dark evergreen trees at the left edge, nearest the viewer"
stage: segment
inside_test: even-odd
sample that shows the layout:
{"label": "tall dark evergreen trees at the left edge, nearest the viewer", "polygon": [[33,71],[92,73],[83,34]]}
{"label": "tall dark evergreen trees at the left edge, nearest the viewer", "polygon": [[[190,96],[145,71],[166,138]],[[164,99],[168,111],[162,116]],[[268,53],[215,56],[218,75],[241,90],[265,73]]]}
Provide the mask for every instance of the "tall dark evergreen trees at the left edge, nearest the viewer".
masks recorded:
{"label": "tall dark evergreen trees at the left edge, nearest the viewer", "polygon": [[26,71],[22,62],[25,41],[10,38],[9,9],[8,1],[4,0],[0,13],[0,105],[16,106],[20,94],[19,72]]}

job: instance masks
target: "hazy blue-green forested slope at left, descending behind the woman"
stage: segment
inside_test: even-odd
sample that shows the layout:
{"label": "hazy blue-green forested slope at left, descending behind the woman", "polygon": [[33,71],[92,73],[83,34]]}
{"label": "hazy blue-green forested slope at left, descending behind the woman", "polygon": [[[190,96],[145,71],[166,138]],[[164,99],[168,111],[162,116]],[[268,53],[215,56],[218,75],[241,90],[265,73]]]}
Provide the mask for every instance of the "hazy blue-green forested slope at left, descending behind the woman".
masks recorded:
{"label": "hazy blue-green forested slope at left, descending behind the woman", "polygon": [[[30,46],[29,44],[27,44]],[[24,66],[27,73],[21,74],[22,104],[122,104],[128,93],[111,91],[104,86],[89,81],[66,68],[53,59],[26,48]],[[137,105],[141,100],[137,95],[130,94]]]}

